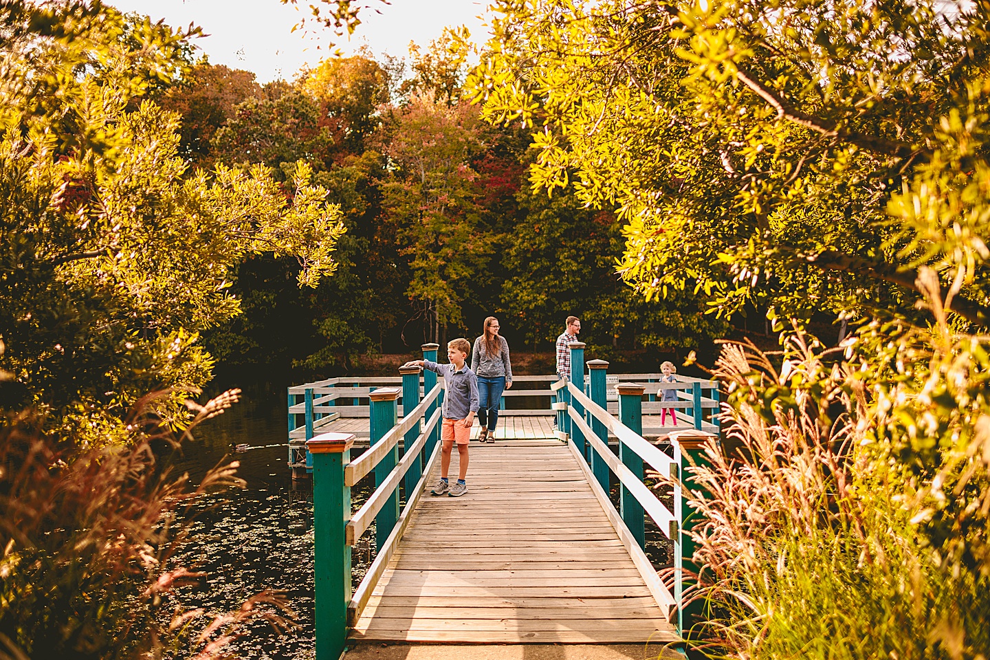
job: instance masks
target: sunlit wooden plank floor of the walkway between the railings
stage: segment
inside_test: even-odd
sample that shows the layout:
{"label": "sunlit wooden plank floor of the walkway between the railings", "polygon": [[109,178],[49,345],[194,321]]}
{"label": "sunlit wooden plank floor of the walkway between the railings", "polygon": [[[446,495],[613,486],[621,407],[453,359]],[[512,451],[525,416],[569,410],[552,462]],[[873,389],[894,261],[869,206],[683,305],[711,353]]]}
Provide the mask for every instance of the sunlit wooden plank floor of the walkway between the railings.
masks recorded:
{"label": "sunlit wooden plank floor of the walkway between the railings", "polygon": [[[546,424],[551,429],[552,419]],[[508,424],[504,428],[508,434]],[[528,439],[471,443],[463,497],[424,494],[353,638],[675,639],[567,445],[535,437],[549,434],[543,425],[538,430],[531,424],[525,432],[531,433],[523,436]],[[452,478],[456,465],[454,451]],[[431,484],[439,461],[434,472]]]}

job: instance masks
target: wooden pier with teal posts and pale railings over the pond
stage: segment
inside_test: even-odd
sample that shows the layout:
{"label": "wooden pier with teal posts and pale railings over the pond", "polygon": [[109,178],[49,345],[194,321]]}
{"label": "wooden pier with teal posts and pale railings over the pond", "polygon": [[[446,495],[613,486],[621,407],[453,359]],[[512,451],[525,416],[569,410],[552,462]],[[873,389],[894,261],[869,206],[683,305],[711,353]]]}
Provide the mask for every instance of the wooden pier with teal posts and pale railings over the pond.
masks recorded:
{"label": "wooden pier with teal posts and pale railings over the pond", "polygon": [[[425,357],[436,359],[437,348],[424,346]],[[681,493],[718,436],[717,384],[676,384],[679,401],[662,404],[678,411],[663,435],[667,453],[647,439],[657,386],[610,377],[607,362],[585,362],[582,343],[570,351],[571,364],[585,367],[572,380],[531,377],[548,389],[520,394],[545,397],[545,407],[505,411],[494,443],[469,444],[460,498],[429,493],[439,477],[444,395],[433,372],[403,368],[393,381],[401,388],[359,390],[352,379],[290,388],[290,450],[296,469],[309,463],[314,479],[317,660],[338,660],[362,642],[683,642],[695,615],[685,599],[689,534],[699,521]],[[358,414],[361,395],[368,404]],[[338,402],[349,417],[332,410]],[[366,429],[368,448],[353,459],[360,438],[343,431],[343,420]],[[300,430],[304,444],[292,437]],[[457,460],[454,450],[451,481]],[[646,468],[667,479],[672,511],[645,485]],[[372,472],[375,490],[354,511],[350,488]],[[617,482],[619,507],[609,498]],[[664,567],[644,553],[647,518],[673,541],[667,584],[658,576]],[[354,588],[350,548],[372,524],[377,553]]]}

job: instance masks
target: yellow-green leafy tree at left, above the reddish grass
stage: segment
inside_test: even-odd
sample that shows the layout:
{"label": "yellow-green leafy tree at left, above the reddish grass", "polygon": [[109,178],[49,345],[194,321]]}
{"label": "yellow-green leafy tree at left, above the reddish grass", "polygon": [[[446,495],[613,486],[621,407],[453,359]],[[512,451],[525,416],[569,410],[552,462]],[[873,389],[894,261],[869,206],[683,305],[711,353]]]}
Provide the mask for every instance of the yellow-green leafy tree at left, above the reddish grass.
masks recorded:
{"label": "yellow-green leafy tree at left, above the reddish grass", "polygon": [[[9,411],[34,405],[78,441],[104,441],[144,393],[198,387],[198,333],[240,313],[249,254],[298,259],[299,284],[334,272],[340,209],[291,168],[187,171],[178,120],[132,107],[186,63],[186,35],[98,2],[8,3],[0,93],[0,366]],[[159,412],[182,424],[179,400]]]}

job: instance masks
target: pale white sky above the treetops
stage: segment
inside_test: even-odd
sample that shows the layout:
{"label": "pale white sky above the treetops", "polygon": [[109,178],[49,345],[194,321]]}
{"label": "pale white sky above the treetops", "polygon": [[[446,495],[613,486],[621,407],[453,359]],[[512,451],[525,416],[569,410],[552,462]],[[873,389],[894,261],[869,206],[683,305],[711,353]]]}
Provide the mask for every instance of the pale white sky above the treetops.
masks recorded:
{"label": "pale white sky above the treetops", "polygon": [[[301,10],[278,0],[110,0],[121,11],[164,19],[172,27],[195,23],[209,37],[194,40],[214,64],[253,71],[265,83],[291,80],[300,67],[315,65],[330,54],[336,42],[345,53],[366,44],[376,55],[405,56],[409,42],[426,46],[447,26],[466,25],[476,42],[486,39],[483,21],[488,0],[391,0],[391,4],[367,3],[361,24],[351,36],[337,39],[332,31],[312,26],[311,33],[292,33],[309,5]],[[378,12],[376,13],[375,10]]]}

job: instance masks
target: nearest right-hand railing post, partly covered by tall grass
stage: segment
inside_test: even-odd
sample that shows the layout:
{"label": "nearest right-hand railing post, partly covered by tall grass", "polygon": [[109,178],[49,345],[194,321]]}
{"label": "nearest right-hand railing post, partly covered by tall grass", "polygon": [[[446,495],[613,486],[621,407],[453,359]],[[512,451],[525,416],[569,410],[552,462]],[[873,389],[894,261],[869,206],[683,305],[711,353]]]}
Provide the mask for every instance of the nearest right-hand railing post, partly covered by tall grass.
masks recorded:
{"label": "nearest right-hand railing post, partly covered by tall grass", "polygon": [[[690,508],[684,498],[684,489],[703,491],[695,482],[694,475],[688,470],[693,465],[708,465],[705,456],[705,442],[712,435],[697,430],[682,430],[670,435],[670,443],[674,447],[674,463],[677,466],[677,481],[674,483],[674,511],[677,519],[677,533],[672,534],[674,541],[674,602],[677,605],[677,632],[685,639],[691,638],[691,626],[703,615],[704,599],[693,599],[692,603],[682,605],[684,594],[697,582],[698,566],[694,563],[694,551],[698,544],[691,538],[690,531],[701,527],[704,520],[694,509]],[[685,575],[687,573],[688,575]],[[688,594],[688,600],[691,594]]]}

